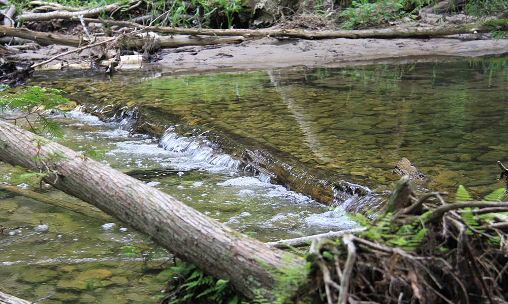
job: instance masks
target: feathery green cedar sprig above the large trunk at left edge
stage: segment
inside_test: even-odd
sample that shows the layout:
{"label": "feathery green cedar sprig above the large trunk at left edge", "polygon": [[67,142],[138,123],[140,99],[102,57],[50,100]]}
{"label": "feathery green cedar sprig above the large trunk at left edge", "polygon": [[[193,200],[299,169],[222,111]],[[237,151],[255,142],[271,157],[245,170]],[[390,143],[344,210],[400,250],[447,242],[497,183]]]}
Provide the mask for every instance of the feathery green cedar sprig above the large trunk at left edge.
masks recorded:
{"label": "feathery green cedar sprig above the large trunk at left edge", "polygon": [[5,115],[8,110],[21,113],[18,116],[0,118],[13,121],[14,124],[24,121],[35,133],[45,132],[51,137],[61,138],[63,135],[58,123],[53,121],[48,113],[62,112],[58,106],[69,102],[67,98],[61,96],[62,93],[65,92],[32,86],[19,93],[2,96],[0,97],[0,114]]}

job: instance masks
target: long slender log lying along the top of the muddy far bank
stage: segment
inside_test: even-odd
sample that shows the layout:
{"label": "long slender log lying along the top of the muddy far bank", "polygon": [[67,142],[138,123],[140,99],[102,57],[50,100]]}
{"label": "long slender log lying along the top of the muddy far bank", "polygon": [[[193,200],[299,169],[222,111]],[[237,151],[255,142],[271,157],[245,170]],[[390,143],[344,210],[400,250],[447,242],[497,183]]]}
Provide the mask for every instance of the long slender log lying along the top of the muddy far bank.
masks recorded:
{"label": "long slender log lying along the top of the muddy far bank", "polygon": [[[140,28],[140,24],[130,21],[114,21],[104,19],[83,18],[85,22],[96,22],[110,25]],[[146,26],[145,30],[181,34],[211,36],[244,36],[252,37],[292,37],[301,39],[333,39],[333,38],[418,38],[430,36],[446,36],[467,33],[485,33],[508,28],[508,19],[490,20],[478,23],[442,25],[433,27],[379,28],[358,30],[300,30],[300,29],[213,29],[213,28],[182,28],[169,26]]]}

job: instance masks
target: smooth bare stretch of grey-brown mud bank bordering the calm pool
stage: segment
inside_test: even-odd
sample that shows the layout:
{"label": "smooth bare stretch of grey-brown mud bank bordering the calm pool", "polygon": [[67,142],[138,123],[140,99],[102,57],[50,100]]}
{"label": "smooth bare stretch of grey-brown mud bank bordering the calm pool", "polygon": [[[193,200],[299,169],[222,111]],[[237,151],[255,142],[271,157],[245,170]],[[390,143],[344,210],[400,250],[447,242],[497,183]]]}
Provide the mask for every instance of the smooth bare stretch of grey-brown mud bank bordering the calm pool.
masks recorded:
{"label": "smooth bare stretch of grey-brown mud bank bordering the calm pool", "polygon": [[154,63],[162,71],[207,69],[270,69],[305,65],[348,65],[415,62],[439,57],[478,57],[503,54],[508,39],[493,41],[482,35],[432,39],[324,39],[264,38],[216,48],[181,48]]}

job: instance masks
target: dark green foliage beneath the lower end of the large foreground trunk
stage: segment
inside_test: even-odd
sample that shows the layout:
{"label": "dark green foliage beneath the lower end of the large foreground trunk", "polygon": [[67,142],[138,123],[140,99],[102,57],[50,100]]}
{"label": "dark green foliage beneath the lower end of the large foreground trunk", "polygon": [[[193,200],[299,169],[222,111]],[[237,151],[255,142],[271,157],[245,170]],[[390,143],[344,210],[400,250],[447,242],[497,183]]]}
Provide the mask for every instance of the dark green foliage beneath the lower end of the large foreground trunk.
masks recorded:
{"label": "dark green foliage beneath the lower end of the large foreground trunk", "polygon": [[177,260],[175,265],[162,271],[155,278],[157,282],[168,282],[168,303],[218,303],[237,304],[239,297],[227,280],[207,276],[196,265]]}

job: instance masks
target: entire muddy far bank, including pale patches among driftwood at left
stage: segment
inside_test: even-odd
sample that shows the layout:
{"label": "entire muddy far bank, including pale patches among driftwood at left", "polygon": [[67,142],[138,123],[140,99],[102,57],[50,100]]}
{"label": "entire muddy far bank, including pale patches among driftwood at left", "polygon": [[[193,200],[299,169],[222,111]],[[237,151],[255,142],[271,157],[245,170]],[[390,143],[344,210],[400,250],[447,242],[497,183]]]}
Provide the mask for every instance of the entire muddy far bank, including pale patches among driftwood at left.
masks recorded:
{"label": "entire muddy far bank, including pale patches among driftwood at left", "polygon": [[[19,50],[7,59],[46,60],[73,47],[46,46]],[[372,63],[403,63],[450,57],[465,58],[506,53],[508,39],[494,41],[486,34],[462,34],[431,39],[277,39],[265,37],[240,44],[163,49],[148,59],[141,54],[121,56],[119,70],[139,68],[192,74],[205,70],[271,69],[292,66],[344,67]],[[41,69],[98,68],[111,60],[92,61],[93,51],[62,56]]]}

